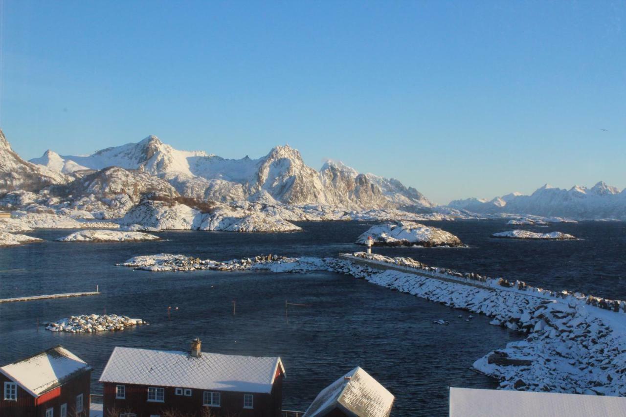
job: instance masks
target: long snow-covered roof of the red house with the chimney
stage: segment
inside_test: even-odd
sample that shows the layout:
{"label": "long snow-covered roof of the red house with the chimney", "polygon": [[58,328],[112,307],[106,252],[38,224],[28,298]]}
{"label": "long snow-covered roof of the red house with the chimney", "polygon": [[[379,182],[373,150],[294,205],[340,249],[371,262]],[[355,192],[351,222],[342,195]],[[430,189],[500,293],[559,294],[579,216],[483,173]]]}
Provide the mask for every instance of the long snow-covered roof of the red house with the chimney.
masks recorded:
{"label": "long snow-covered roof of the red house with the chimney", "polygon": [[117,347],[100,382],[271,393],[280,358]]}

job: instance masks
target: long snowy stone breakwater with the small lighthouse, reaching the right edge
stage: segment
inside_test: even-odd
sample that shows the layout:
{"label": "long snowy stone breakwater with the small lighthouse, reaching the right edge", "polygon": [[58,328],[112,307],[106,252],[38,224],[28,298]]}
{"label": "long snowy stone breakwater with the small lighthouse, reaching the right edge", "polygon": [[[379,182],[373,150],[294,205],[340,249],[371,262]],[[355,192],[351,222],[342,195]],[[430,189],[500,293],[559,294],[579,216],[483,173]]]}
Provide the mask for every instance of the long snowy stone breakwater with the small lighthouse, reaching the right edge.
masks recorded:
{"label": "long snowy stone breakwater with the small lighthouse, reaching the right edge", "polygon": [[429,267],[405,257],[364,252],[343,256],[319,259],[269,255],[216,262],[161,254],[135,257],[122,265],[152,271],[265,269],[350,274],[429,301],[486,314],[493,317],[491,324],[528,334],[523,341],[510,342],[473,363],[476,371],[498,379],[501,388],[626,395],[625,301]]}

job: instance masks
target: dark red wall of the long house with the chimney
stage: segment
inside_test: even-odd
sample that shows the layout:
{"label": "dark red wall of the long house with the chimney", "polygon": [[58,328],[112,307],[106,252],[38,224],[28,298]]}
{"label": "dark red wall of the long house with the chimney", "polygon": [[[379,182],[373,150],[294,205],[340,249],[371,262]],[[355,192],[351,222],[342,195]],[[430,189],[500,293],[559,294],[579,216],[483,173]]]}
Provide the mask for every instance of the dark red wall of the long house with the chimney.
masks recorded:
{"label": "dark red wall of the long house with the chimney", "polygon": [[[221,394],[222,406],[209,408],[215,417],[279,417],[282,407],[282,378],[282,375],[275,378],[271,394],[253,394],[253,409],[244,408],[245,393],[232,391],[214,391]],[[203,409],[207,408],[202,405],[203,393],[207,391],[205,389],[192,389],[191,396],[184,396],[176,395],[176,390],[173,387],[163,387],[165,388],[165,402],[153,403],[148,401],[148,386],[146,385],[121,384],[126,387],[126,399],[115,398],[116,385],[114,383],[104,384],[105,417],[109,417],[111,411],[136,413],[138,417],[150,417],[150,414],[163,414],[163,411],[170,409],[200,417]]]}

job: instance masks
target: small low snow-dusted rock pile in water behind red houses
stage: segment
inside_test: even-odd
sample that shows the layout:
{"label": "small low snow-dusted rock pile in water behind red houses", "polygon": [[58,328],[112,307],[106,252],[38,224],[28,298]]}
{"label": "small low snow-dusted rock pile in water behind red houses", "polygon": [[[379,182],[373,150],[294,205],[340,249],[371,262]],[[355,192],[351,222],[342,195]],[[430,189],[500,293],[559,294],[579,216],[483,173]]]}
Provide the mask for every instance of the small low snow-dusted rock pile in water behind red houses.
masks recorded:
{"label": "small low snow-dusted rock pile in water behind red houses", "polygon": [[130,317],[118,316],[117,314],[105,314],[104,316],[83,314],[82,316],[70,316],[66,319],[50,322],[46,326],[46,330],[53,332],[93,333],[124,330],[140,324],[144,324],[143,320],[131,319]]}

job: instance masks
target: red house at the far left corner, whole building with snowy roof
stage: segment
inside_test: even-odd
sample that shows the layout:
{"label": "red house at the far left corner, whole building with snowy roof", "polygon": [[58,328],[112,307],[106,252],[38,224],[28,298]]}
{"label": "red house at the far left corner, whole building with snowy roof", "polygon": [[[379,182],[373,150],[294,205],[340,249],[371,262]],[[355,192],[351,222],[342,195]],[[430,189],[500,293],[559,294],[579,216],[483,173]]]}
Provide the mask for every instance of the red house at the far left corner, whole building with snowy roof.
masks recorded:
{"label": "red house at the far left corner, whole building with snowy roof", "polygon": [[91,367],[56,346],[0,368],[0,417],[88,417]]}

